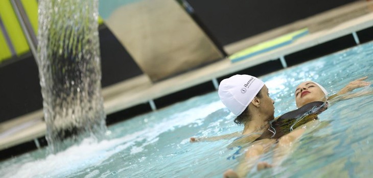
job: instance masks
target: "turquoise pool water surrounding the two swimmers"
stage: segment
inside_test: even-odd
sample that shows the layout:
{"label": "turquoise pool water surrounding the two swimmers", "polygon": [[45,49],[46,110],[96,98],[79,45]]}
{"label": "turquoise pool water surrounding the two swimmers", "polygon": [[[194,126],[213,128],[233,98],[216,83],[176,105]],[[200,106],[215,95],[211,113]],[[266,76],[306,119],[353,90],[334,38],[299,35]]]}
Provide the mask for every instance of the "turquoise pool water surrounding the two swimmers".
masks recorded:
{"label": "turquoise pool water surrounding the two swimmers", "polygon": [[[295,109],[294,88],[314,80],[328,92],[369,76],[373,43],[318,58],[262,77],[275,100],[275,115]],[[360,88],[371,90],[371,87]],[[373,96],[341,101],[319,115],[329,123],[306,132],[276,168],[251,171],[253,177],[347,177],[373,173]],[[221,177],[235,168],[239,149],[230,140],[189,143],[191,136],[242,131],[217,92],[191,98],[108,127],[106,139],[87,138],[56,155],[40,149],[0,163],[1,177]],[[262,160],[271,162],[272,152]]]}

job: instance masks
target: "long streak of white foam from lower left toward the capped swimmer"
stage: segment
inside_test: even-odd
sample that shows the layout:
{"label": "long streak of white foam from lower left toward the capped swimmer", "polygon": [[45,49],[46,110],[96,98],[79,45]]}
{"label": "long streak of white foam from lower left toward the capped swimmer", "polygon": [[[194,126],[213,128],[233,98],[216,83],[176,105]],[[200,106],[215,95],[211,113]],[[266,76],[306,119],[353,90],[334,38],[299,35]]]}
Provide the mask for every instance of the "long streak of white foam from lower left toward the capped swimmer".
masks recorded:
{"label": "long streak of white foam from lower left toward the capped swimmer", "polygon": [[[171,119],[161,121],[151,128],[146,128],[121,138],[97,141],[93,138],[86,138],[80,144],[73,145],[67,150],[54,155],[48,155],[44,159],[31,161],[18,166],[10,166],[0,170],[4,177],[64,177],[83,170],[84,168],[100,165],[110,156],[119,153],[127,148],[130,154],[136,154],[144,150],[144,146],[156,142],[161,133],[173,130],[189,124],[202,124],[203,118],[208,114],[223,108],[220,102],[213,102],[206,105],[192,108],[184,112],[175,113]],[[144,140],[146,140],[144,142]],[[136,142],[144,142],[140,146]],[[6,173],[4,173],[6,172]],[[87,176],[96,176],[99,172],[94,171]]]}

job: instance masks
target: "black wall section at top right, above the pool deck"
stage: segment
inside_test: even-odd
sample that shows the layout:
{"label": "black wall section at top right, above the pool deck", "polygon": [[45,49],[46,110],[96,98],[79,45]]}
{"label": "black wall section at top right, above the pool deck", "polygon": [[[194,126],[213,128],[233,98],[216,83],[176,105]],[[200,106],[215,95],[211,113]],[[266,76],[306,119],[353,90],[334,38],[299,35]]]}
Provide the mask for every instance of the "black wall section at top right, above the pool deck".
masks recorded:
{"label": "black wall section at top right, above the pool deck", "polygon": [[354,0],[186,0],[221,45],[336,8]]}

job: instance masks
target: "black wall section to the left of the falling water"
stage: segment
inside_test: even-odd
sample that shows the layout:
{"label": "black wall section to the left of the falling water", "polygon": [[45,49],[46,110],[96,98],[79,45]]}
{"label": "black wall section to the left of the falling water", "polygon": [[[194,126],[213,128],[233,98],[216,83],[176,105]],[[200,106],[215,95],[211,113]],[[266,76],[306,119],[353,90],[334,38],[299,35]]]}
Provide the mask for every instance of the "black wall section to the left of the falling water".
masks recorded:
{"label": "black wall section to the left of the falling water", "polygon": [[32,55],[0,68],[0,122],[42,108],[39,72]]}

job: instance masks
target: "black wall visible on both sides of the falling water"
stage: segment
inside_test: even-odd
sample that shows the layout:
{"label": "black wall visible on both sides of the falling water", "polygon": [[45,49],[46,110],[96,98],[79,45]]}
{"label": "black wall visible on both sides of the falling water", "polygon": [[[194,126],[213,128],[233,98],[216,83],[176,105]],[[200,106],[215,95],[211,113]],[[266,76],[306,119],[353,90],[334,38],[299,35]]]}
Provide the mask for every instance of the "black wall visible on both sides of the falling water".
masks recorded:
{"label": "black wall visible on both sides of the falling water", "polygon": [[[102,87],[143,72],[106,26],[101,26],[100,50]],[[0,66],[0,122],[41,109],[39,71],[31,54]]]}

